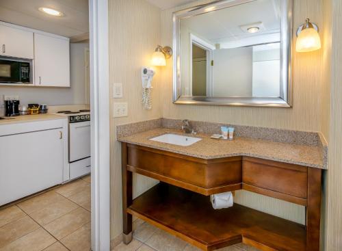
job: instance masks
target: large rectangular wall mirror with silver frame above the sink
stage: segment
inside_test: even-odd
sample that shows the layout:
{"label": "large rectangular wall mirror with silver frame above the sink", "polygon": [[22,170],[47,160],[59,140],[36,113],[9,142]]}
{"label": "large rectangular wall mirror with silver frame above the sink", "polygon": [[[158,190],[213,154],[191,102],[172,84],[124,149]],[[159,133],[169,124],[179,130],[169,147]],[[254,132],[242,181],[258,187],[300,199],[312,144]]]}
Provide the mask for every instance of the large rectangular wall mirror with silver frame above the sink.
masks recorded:
{"label": "large rectangular wall mirror with silver frame above the sink", "polygon": [[223,0],[174,12],[173,102],[291,107],[293,0]]}

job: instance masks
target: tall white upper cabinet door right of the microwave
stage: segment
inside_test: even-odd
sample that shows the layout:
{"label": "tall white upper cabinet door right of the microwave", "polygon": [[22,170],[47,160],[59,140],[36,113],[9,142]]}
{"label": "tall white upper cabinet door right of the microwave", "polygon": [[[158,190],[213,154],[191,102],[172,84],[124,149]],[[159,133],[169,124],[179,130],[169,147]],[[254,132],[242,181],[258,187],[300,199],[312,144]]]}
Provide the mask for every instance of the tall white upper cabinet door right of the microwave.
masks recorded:
{"label": "tall white upper cabinet door right of the microwave", "polygon": [[34,34],[34,79],[36,85],[70,86],[68,38]]}

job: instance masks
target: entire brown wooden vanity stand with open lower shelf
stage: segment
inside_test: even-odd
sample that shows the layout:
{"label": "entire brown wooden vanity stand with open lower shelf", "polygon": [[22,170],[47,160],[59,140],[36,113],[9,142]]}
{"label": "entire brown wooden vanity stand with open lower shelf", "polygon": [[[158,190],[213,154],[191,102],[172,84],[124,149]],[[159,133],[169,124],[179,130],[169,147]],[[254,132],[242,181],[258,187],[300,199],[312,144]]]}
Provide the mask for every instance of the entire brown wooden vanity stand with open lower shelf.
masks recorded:
{"label": "entire brown wooden vanity stand with open lower shelf", "polygon": [[[132,197],[132,173],[161,181]],[[214,210],[209,195],[246,189],[306,207],[306,226],[234,204]],[[200,159],[122,143],[123,232],[132,215],[202,250],[244,242],[261,250],[319,250],[321,170],[253,157]]]}

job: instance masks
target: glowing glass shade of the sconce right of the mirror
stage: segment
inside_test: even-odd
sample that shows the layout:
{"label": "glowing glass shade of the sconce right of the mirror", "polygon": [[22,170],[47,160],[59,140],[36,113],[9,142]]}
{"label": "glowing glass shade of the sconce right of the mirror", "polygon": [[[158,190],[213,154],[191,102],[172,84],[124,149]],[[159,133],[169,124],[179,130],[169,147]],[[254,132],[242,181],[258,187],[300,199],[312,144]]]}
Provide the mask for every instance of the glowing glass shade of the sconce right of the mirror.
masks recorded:
{"label": "glowing glass shade of the sconce right of the mirror", "polygon": [[308,52],[319,49],[321,49],[321,38],[319,38],[318,32],[313,27],[309,27],[300,31],[295,44],[296,51]]}

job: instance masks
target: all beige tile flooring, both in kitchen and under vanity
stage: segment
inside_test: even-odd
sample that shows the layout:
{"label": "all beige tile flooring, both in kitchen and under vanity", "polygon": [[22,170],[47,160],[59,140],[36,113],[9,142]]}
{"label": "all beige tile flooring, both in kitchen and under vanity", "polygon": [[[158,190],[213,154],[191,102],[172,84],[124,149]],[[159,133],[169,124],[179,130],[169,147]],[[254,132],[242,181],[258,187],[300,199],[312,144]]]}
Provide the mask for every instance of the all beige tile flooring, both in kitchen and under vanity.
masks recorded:
{"label": "all beige tile flooring, both in kitchen and under vanity", "polygon": [[[89,251],[90,176],[0,209],[0,251]],[[197,251],[140,219],[133,241],[113,251]],[[257,251],[242,243],[220,251]]]}

